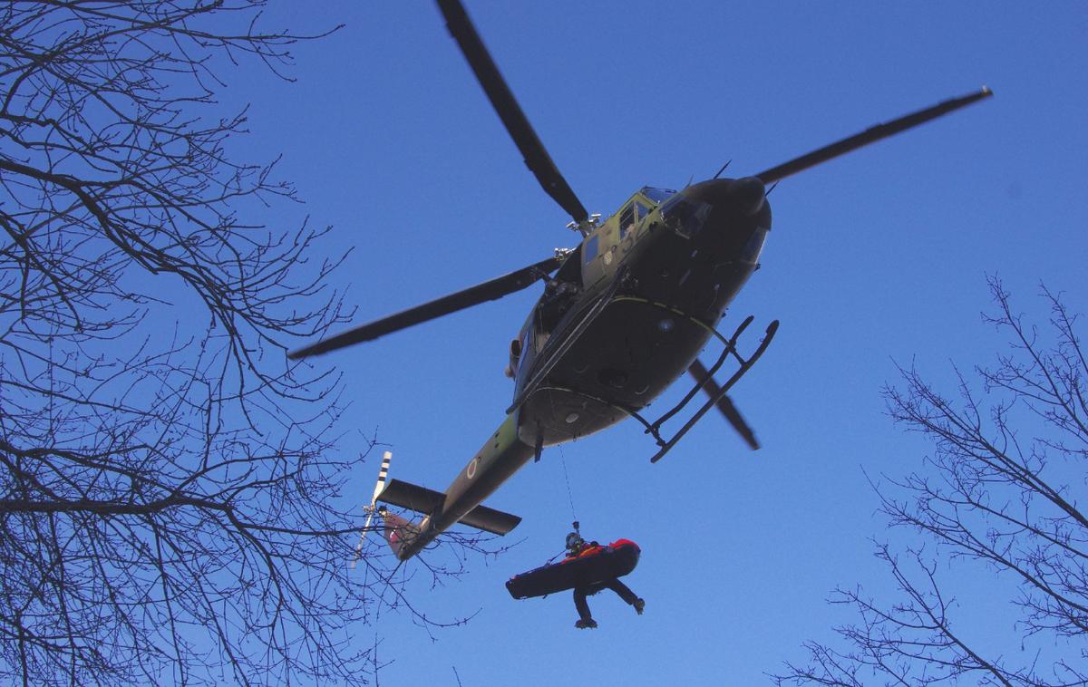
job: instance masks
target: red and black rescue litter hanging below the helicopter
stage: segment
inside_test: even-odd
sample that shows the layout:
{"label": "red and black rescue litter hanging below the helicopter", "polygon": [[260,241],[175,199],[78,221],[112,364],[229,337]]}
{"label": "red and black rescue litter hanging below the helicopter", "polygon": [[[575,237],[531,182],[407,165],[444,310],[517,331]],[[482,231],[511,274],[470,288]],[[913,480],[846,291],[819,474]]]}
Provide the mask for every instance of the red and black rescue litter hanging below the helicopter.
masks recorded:
{"label": "red and black rescue litter hanging below the helicopter", "polygon": [[564,589],[588,587],[627,575],[639,564],[640,553],[639,545],[630,539],[617,539],[608,546],[586,547],[577,557],[515,575],[506,582],[506,588],[515,599],[530,599]]}

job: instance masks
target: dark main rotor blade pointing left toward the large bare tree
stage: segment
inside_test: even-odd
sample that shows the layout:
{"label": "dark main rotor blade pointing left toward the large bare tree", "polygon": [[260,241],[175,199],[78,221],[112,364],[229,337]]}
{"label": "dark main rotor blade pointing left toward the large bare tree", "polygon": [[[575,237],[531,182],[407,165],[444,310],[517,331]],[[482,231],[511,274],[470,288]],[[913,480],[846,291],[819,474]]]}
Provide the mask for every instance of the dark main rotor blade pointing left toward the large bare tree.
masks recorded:
{"label": "dark main rotor blade pointing left toward the large bare tree", "polygon": [[536,279],[547,276],[558,270],[561,263],[561,258],[548,258],[547,260],[542,260],[541,262],[529,265],[528,267],[522,267],[521,270],[504,274],[503,276],[495,277],[494,279],[489,279],[487,282],[477,284],[475,286],[470,286],[469,288],[455,293],[443,296],[442,298],[429,301],[421,305],[416,305],[415,308],[409,308],[408,310],[388,315],[387,317],[382,317],[381,320],[375,320],[374,322],[360,325],[323,341],[307,346],[306,348],[290,351],[287,353],[287,358],[297,360],[309,355],[327,353],[329,351],[334,351],[355,344],[361,344],[362,341],[371,341],[380,336],[398,332],[412,325],[434,320],[435,317],[448,315],[449,313],[457,312],[458,310],[465,310],[466,308],[471,308],[472,305],[479,305],[480,303],[484,303],[490,300],[499,299],[504,296],[514,293],[515,291],[520,291],[521,289],[531,286]]}

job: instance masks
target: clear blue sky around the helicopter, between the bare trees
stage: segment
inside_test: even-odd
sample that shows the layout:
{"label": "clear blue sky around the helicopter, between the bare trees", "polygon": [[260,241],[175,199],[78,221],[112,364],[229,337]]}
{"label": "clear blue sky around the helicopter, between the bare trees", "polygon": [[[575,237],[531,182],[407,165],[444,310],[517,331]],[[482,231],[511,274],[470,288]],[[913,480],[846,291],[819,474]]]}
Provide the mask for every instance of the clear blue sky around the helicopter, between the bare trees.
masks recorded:
{"label": "clear blue sky around the helicopter, between the bare trees", "polygon": [[[520,544],[470,558],[445,586],[411,586],[429,615],[474,614],[468,624],[433,640],[404,614],[358,628],[392,661],[382,685],[765,683],[851,620],[824,601],[836,585],[887,588],[868,538],[907,540],[886,532],[863,474],[901,475],[926,451],[883,414],[893,361],[947,382],[950,361],[990,360],[1001,341],[979,318],[988,273],[1025,309],[1040,279],[1088,307],[1088,5],[466,4],[553,159],[605,215],[642,185],[680,188],[729,159],[751,174],[982,85],[996,92],[771,195],[763,268],[722,325],[781,321],[733,395],[761,451],[713,416],[656,465],[633,424],[547,450],[490,501],[523,516],[507,538]],[[309,214],[335,225],[330,253],[354,247],[339,286],[357,322],[576,245],[433,3],[314,7],[267,17],[347,24],[296,50],[297,83],[236,72],[223,101],[252,103],[239,152],[282,152],[307,201],[270,222]],[[348,380],[346,429],[376,430],[393,476],[445,489],[503,419],[506,347],[535,298],[320,359]],[[378,459],[355,477],[360,502]],[[642,546],[627,580],[645,615],[605,592],[591,599],[601,627],[576,630],[569,595],[514,601],[503,587],[561,548],[573,519],[564,464],[583,533]],[[1018,650],[1012,609],[991,610],[964,630]]]}

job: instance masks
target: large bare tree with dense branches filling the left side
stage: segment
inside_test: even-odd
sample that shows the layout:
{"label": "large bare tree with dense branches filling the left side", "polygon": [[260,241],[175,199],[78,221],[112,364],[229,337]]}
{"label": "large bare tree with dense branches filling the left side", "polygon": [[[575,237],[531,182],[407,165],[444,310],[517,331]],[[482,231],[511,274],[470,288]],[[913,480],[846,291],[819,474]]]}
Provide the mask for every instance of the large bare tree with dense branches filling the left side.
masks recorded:
{"label": "large bare tree with dense branches filling the left side", "polygon": [[350,624],[398,590],[376,553],[349,573],[339,491],[370,442],[334,450],[338,379],[284,355],[343,321],[337,261],[243,218],[294,191],[214,101],[239,63],[286,78],[262,4],[0,4],[2,682],[376,665]]}

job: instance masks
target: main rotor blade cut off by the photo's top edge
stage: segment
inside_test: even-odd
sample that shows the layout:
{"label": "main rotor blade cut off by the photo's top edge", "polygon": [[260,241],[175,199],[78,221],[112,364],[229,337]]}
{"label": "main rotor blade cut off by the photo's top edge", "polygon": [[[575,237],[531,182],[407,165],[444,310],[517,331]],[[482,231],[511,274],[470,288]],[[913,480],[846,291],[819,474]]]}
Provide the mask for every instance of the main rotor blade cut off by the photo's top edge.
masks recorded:
{"label": "main rotor blade cut off by the photo's top edge", "polygon": [[574,222],[583,222],[589,217],[589,213],[567,184],[567,179],[559,173],[559,168],[555,166],[526,113],[521,111],[521,105],[510,92],[510,87],[507,86],[491,53],[487,52],[460,0],[438,0],[438,9],[446,18],[449,34],[457,41],[492,107],[503,120],[503,125],[506,126],[518,150],[521,151],[529,171],[544,187],[544,191],[559,203]]}

